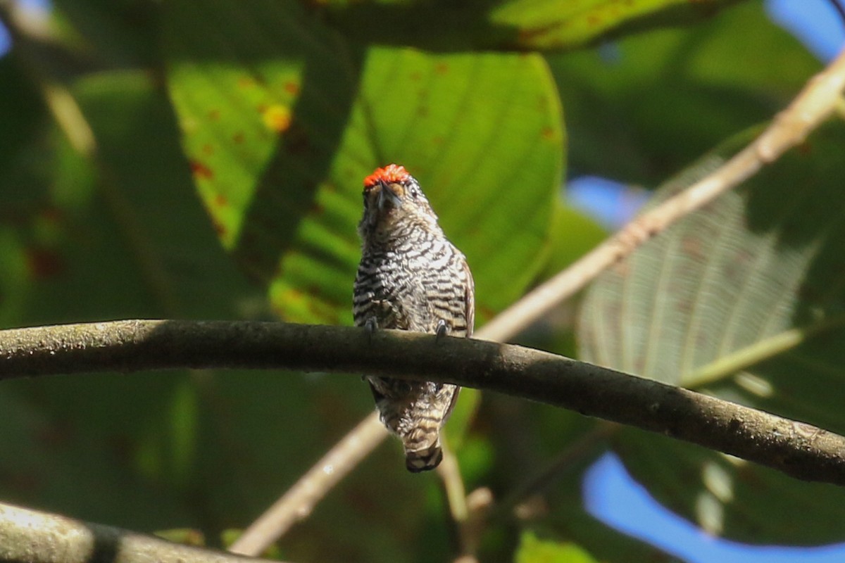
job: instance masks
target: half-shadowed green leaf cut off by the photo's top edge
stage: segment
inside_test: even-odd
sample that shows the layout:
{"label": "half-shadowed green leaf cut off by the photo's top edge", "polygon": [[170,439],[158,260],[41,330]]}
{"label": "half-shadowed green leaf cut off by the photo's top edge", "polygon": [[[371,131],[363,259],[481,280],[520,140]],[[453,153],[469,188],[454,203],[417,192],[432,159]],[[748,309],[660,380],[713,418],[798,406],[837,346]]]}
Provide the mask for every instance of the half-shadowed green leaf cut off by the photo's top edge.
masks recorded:
{"label": "half-shadowed green leaf cut off by the photo's top edge", "polygon": [[[335,0],[333,23],[378,44],[435,51],[560,50],[624,33],[704,19],[738,0]],[[373,30],[375,32],[373,33]]]}

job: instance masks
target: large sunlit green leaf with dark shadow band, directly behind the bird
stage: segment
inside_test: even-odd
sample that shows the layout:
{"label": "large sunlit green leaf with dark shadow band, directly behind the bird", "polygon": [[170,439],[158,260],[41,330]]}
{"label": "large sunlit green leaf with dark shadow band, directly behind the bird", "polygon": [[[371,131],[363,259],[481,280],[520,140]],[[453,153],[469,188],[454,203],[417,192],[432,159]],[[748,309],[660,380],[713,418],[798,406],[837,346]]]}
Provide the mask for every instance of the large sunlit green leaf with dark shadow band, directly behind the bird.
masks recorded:
{"label": "large sunlit green leaf with dark shadow band, directly behind the bird", "polygon": [[537,271],[563,154],[541,58],[365,51],[293,2],[169,3],[166,37],[199,192],[282,317],[351,321],[361,181],[390,162],[466,253],[479,318]]}

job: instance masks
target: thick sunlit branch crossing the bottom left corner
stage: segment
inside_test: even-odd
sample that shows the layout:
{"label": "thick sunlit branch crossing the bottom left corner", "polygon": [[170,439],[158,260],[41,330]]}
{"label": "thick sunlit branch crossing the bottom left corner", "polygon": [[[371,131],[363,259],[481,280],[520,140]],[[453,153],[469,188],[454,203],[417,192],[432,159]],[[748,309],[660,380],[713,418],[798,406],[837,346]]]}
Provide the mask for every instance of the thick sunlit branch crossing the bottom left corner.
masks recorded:
{"label": "thick sunlit branch crossing the bottom left corner", "polygon": [[0,561],[17,563],[260,563],[142,533],[0,504]]}

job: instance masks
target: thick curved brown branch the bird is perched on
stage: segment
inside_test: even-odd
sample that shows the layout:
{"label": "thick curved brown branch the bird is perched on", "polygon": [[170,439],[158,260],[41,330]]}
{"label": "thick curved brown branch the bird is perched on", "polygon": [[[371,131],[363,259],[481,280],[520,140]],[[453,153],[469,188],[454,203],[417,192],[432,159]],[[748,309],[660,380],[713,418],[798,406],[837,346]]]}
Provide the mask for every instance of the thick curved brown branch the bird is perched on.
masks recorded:
{"label": "thick curved brown branch the bird is perched on", "polygon": [[117,321],[0,332],[0,379],[85,371],[284,368],[504,392],[845,485],[845,438],[718,398],[511,344],[281,322]]}

